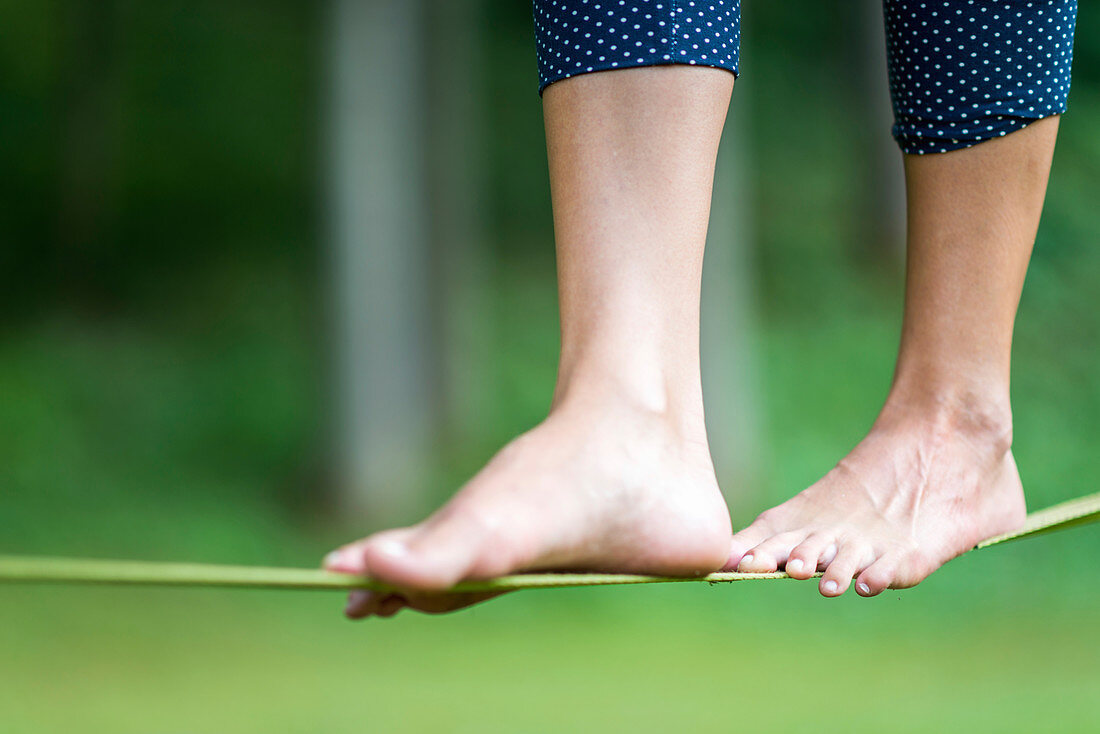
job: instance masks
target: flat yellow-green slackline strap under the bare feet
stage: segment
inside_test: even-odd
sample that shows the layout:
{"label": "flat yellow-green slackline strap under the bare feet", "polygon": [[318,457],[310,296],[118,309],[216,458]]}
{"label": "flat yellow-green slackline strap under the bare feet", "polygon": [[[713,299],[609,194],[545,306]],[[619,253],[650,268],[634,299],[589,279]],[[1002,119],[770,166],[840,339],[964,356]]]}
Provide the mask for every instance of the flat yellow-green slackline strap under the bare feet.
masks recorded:
{"label": "flat yellow-green slackline strap under the bare feet", "polygon": [[[1009,540],[1019,540],[1077,525],[1100,521],[1100,492],[1041,510],[1027,516],[1014,533],[990,538],[977,548],[987,548]],[[817,573],[821,576],[821,573]],[[486,593],[519,589],[560,589],[563,587],[601,587],[627,583],[678,583],[705,581],[763,581],[790,579],[787,573],[711,573],[704,577],[673,578],[629,573],[519,573],[485,581],[468,581],[451,592]],[[237,587],[255,589],[366,589],[392,591],[374,579],[332,573],[316,569],[265,568],[257,566],[218,566],[206,563],[161,563],[150,561],[86,560],[77,558],[41,558],[0,556],[0,582],[12,583],[95,583],[157,587]]]}

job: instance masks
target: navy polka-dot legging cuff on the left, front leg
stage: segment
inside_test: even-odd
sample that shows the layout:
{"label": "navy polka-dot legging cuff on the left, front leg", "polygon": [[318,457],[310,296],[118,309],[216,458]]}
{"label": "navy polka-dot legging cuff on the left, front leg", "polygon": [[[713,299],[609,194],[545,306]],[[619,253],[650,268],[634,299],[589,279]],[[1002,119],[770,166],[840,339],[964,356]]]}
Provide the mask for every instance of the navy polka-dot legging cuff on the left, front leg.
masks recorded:
{"label": "navy polka-dot legging cuff on the left, front leg", "polygon": [[539,92],[587,72],[697,64],[737,74],[740,0],[534,0]]}

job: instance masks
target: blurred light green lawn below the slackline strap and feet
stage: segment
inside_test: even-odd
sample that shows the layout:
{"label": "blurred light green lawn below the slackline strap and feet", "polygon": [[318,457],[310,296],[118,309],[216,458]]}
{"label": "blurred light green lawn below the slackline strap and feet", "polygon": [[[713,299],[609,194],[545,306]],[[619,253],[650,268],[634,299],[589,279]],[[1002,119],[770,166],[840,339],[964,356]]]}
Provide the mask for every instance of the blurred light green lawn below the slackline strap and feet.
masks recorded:
{"label": "blurred light green lawn below the slackline strap and feet", "polygon": [[1094,732],[1094,567],[1030,562],[1084,533],[871,601],[542,591],[353,624],[327,593],[8,588],[0,731]]}

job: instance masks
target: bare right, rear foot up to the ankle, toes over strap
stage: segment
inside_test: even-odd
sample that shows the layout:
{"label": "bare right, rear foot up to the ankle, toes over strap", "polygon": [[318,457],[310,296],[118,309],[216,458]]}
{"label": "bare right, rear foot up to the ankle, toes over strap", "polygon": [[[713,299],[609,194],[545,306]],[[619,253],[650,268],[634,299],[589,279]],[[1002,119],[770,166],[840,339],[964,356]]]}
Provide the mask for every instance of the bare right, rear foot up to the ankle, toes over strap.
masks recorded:
{"label": "bare right, rear foot up to the ankle, toes over strap", "polygon": [[980,541],[1019,527],[1024,495],[1008,421],[887,408],[835,469],[734,536],[727,569],[875,596],[903,589]]}

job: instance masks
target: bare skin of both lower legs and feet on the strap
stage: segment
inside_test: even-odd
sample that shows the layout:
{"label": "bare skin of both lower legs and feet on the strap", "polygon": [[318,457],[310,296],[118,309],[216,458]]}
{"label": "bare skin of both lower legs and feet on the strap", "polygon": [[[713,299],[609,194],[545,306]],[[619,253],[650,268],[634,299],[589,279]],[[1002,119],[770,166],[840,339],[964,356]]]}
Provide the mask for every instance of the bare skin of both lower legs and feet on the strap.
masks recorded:
{"label": "bare skin of both lower legs and feet on the strap", "polygon": [[[547,419],[442,510],[326,558],[400,593],[353,592],[353,618],[446,612],[453,583],[524,570],[795,578],[837,596],[910,587],[1016,527],[1012,327],[1057,133],[1049,118],[905,157],[905,318],[892,388],[825,478],[733,536],[703,425],[698,296],[732,75],[587,74],[543,97],[562,351]],[[858,577],[858,578],[857,578]]]}

